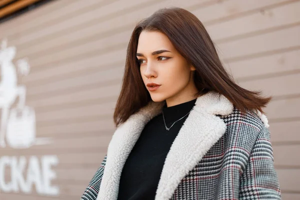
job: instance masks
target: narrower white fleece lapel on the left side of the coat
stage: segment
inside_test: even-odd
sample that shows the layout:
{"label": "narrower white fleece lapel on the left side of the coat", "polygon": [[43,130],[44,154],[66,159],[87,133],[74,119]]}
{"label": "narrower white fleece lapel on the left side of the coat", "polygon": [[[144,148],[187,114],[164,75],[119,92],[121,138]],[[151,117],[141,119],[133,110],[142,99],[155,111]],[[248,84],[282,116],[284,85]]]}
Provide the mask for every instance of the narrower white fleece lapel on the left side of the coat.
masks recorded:
{"label": "narrower white fleece lapel on the left side of the coat", "polygon": [[151,101],[117,127],[107,148],[107,158],[97,200],[117,199],[122,168],[145,124],[161,112],[163,103]]}

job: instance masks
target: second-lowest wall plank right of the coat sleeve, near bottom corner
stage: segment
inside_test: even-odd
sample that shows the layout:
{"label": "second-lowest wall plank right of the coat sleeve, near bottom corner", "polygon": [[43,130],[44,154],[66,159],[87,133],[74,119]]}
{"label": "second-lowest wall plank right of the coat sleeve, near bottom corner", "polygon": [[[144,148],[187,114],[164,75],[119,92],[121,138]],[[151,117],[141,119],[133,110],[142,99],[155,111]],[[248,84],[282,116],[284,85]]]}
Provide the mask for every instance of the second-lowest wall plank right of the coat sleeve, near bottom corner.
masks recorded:
{"label": "second-lowest wall plank right of the coat sleeve, near bottom corner", "polygon": [[276,169],[282,190],[300,192],[300,169]]}

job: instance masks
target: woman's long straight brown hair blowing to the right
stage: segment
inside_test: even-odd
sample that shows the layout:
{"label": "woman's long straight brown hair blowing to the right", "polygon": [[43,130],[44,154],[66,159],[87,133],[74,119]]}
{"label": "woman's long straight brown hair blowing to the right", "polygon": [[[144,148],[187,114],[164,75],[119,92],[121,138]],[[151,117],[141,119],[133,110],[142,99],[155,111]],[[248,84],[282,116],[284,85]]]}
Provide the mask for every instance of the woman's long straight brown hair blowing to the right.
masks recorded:
{"label": "woman's long straight brown hair blowing to the right", "polygon": [[136,58],[138,37],[143,30],[165,34],[176,50],[196,68],[194,83],[200,91],[197,95],[216,91],[241,111],[257,109],[263,113],[262,107],[271,97],[262,97],[260,91],[249,91],[238,86],[224,69],[201,21],[183,8],[171,7],[157,10],[133,29],[127,47],[122,87],[113,114],[116,126],[151,100]]}

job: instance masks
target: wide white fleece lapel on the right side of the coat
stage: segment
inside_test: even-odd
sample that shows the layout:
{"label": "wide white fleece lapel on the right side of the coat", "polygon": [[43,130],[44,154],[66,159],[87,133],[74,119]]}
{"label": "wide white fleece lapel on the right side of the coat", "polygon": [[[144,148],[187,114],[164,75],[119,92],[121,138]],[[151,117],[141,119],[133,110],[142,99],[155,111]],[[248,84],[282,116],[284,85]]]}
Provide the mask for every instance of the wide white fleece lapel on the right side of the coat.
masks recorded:
{"label": "wide white fleece lapel on the right side of the coat", "polygon": [[166,156],[155,200],[171,198],[181,179],[225,132],[225,123],[215,114],[232,110],[232,104],[216,93],[198,97]]}

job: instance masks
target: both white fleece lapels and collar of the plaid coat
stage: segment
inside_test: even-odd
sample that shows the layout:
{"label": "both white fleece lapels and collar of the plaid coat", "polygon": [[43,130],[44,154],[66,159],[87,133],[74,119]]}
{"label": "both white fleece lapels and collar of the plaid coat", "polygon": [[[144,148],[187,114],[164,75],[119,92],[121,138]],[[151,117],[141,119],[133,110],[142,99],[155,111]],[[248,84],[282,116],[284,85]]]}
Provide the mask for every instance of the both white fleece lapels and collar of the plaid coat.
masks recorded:
{"label": "both white fleece lapels and collar of the plaid coat", "polygon": [[[97,199],[117,199],[122,167],[143,127],[161,113],[163,104],[151,101],[115,130],[108,145]],[[208,92],[197,98],[166,156],[155,200],[172,196],[181,179],[225,132],[225,123],[215,115],[227,115],[232,110],[230,101],[218,93]]]}

